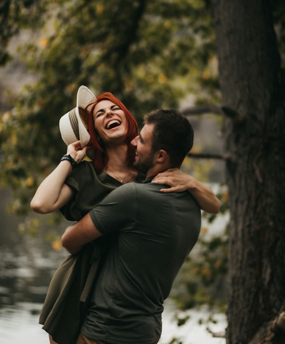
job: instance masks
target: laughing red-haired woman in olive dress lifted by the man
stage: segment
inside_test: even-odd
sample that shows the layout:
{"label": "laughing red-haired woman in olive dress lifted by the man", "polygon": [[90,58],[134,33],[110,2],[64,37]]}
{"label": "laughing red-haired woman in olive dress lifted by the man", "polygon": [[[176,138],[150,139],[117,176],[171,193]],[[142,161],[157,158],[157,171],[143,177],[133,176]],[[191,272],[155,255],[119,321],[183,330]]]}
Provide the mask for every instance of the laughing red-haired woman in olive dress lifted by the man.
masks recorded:
{"label": "laughing red-haired woman in olive dress lifted by the man", "polygon": [[[144,179],[133,168],[135,151],[130,142],[138,135],[134,117],[112,94],[103,93],[97,99],[92,95],[92,102],[91,95],[86,87],[80,87],[75,111],[78,123],[74,130],[79,132],[80,140],[68,144],[66,156],[39,186],[31,202],[35,212],[44,214],[61,209],[68,220],[78,221],[116,187]],[[84,109],[79,104],[81,98],[89,98],[87,110],[91,105],[86,117],[84,112],[80,114],[80,109]],[[70,120],[70,114],[67,115]],[[88,123],[88,147],[83,143],[87,132],[83,122]],[[64,130],[62,135],[67,142]],[[92,163],[81,162],[91,151]],[[218,210],[219,201],[212,191],[178,170],[158,174],[156,182],[170,185],[170,189],[162,189],[166,192],[189,190],[203,210]],[[88,244],[79,254],[68,256],[51,282],[40,323],[57,343],[76,343],[104,247],[100,240],[94,245]],[[51,336],[50,342],[55,343]]]}

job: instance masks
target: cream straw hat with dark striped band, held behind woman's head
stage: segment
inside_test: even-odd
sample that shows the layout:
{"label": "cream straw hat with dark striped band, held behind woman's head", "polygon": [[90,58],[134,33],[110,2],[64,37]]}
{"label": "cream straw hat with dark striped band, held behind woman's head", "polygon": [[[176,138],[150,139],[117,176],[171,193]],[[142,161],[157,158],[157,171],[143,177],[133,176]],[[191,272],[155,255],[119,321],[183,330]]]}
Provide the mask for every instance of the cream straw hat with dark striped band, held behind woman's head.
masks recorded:
{"label": "cream straw hat with dark striped band, held behind woman's head", "polygon": [[[81,147],[85,147],[90,140],[87,131],[88,114],[85,108],[96,100],[95,95],[86,86],[80,86],[77,92],[76,108],[70,110],[59,120],[59,129],[63,141],[67,144],[80,140]],[[92,159],[92,149],[86,152],[88,158]]]}

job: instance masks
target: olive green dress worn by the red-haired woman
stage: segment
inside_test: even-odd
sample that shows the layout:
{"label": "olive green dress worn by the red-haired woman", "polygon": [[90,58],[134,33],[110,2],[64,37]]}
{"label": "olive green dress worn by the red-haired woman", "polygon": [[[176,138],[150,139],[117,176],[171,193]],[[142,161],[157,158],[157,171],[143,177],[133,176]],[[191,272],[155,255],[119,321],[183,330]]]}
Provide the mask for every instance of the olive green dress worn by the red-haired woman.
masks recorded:
{"label": "olive green dress worn by the red-haired woman", "polygon": [[[138,179],[142,181],[144,176]],[[88,161],[78,164],[65,183],[74,189],[72,200],[60,209],[69,221],[79,221],[122,185],[105,171],[95,172]],[[58,344],[77,341],[106,244],[101,237],[94,244],[86,244],[78,254],[67,256],[51,280],[39,323]]]}

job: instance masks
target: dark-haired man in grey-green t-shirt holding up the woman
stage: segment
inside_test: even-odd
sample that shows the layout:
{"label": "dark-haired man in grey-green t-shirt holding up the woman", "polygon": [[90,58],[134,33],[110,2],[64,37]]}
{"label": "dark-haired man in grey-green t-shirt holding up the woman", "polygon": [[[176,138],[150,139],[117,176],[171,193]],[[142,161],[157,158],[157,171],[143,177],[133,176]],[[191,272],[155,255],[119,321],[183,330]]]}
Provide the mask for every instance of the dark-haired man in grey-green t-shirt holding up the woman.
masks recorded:
{"label": "dark-haired man in grey-green t-shirt holding up the woman", "polygon": [[189,192],[163,193],[158,173],[180,167],[193,146],[193,129],[176,110],[156,110],[132,144],[142,184],[124,184],[62,236],[71,253],[100,237],[108,249],[77,344],[152,344],[162,330],[163,302],[195,245],[200,207]]}

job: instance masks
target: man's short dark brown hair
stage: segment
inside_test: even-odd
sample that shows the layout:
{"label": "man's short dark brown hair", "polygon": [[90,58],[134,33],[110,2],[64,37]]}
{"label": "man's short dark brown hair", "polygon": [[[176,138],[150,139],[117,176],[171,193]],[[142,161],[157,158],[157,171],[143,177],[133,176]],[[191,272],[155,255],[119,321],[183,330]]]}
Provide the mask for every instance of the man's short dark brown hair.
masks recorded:
{"label": "man's short dark brown hair", "polygon": [[144,118],[154,124],[152,151],[165,150],[172,167],[180,167],[193,147],[194,131],[188,119],[175,109],[158,109]]}

